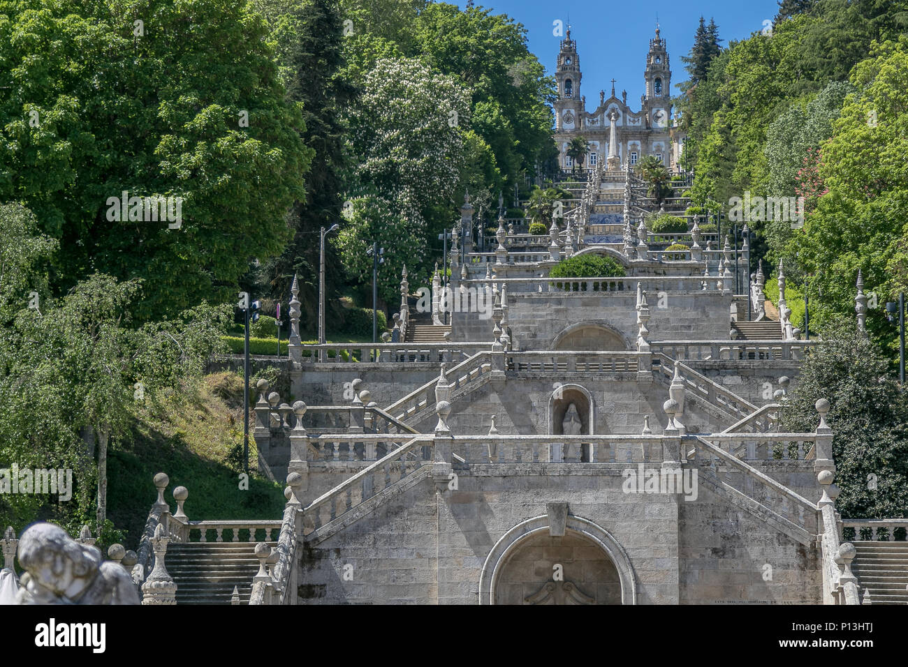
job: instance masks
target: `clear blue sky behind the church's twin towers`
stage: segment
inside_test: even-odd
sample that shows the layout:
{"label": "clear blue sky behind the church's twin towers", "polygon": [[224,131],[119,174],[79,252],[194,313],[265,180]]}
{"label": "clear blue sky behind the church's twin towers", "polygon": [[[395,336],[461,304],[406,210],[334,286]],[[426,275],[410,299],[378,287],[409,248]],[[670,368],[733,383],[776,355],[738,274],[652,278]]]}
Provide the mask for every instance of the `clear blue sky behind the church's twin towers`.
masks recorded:
{"label": "clear blue sky behind the church's twin towers", "polygon": [[[453,3],[463,8],[464,2]],[[716,19],[722,45],[729,40],[745,39],[760,31],[764,21],[772,21],[778,9],[775,0],[478,0],[476,5],[493,9],[494,14],[507,14],[528,30],[529,50],[545,65],[548,74],[555,68],[558,42],[561,37],[552,34],[552,23],[559,19],[571,24],[571,36],[577,40],[580,69],[583,73],[581,92],[587,96],[587,109],[595,108],[599,90],[611,92],[611,79],[617,79],[615,88],[620,96],[627,90],[627,101],[632,108],[640,105],[643,94],[643,71],[649,40],[655,36],[656,15],[661,36],[667,40],[672,68],[672,95],[678,90],[676,83],[685,81],[687,73],[681,62],[694,44],[694,33],[700,15],[709,23]]]}

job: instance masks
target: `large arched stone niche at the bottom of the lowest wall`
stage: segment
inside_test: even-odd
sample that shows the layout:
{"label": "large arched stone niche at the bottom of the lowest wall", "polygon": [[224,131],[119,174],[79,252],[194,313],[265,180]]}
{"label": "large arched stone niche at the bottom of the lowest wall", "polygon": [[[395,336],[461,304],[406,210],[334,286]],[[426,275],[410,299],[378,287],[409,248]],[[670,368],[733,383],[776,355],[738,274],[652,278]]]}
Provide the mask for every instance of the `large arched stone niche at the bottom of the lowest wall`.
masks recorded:
{"label": "large arched stone niche at the bottom of the lowest wall", "polygon": [[[627,552],[607,530],[588,519],[568,515],[562,536],[552,535],[548,515],[528,519],[503,535],[492,547],[479,574],[479,603],[637,603],[637,577]],[[541,546],[542,549],[536,547]],[[552,582],[557,558],[545,559],[546,548],[585,549],[585,571],[563,567],[563,583]],[[594,550],[588,547],[595,547]],[[557,557],[557,551],[550,552]],[[535,554],[543,554],[536,558]],[[561,559],[567,560],[567,559]],[[532,565],[530,565],[532,563]],[[577,559],[574,559],[577,564]],[[617,581],[616,581],[617,578]],[[574,590],[564,584],[574,584]],[[519,591],[517,589],[519,586]],[[538,587],[538,588],[537,588]],[[552,598],[555,598],[554,600]],[[592,598],[592,601],[590,601]],[[519,602],[518,602],[519,600]]]}

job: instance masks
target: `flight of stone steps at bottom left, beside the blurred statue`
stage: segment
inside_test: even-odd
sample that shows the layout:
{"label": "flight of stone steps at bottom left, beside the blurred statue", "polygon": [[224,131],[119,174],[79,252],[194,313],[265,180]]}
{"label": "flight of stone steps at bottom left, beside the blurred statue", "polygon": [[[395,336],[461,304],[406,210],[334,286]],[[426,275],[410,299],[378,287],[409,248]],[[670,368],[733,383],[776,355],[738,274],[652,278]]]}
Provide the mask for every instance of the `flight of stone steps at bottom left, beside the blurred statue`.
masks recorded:
{"label": "flight of stone steps at bottom left, beside the blurred statue", "polygon": [[[233,587],[249,604],[252,578],[259,571],[254,542],[172,542],[167,572],[176,583],[177,604],[230,604]],[[267,543],[272,548],[276,542]]]}

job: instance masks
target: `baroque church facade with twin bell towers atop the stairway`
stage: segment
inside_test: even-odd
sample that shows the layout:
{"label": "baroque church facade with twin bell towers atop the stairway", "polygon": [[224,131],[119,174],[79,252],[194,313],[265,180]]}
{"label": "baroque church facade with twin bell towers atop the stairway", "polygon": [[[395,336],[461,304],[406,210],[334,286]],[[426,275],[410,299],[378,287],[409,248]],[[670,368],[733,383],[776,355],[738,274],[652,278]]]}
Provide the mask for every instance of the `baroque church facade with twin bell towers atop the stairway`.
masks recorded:
{"label": "baroque church facade with twin bell towers atop the stairway", "polygon": [[[646,54],[646,93],[640,96],[639,111],[635,112],[628,105],[627,91],[621,93],[620,99],[617,97],[615,79],[612,79],[611,96],[606,99],[605,91],[599,91],[598,106],[587,112],[587,96],[581,90],[577,40],[571,38],[569,28],[565,39],[561,40],[555,78],[558,82],[558,100],[554,104],[555,140],[558,163],[563,170],[593,169],[601,162],[607,164],[610,171],[617,171],[628,164],[633,166],[646,155],[655,155],[670,171],[676,171],[684,139],[672,121],[669,94],[672,73],[666,40],[659,35],[658,27]],[[568,156],[570,141],[578,136],[589,144],[589,152],[581,165],[575,165]]]}

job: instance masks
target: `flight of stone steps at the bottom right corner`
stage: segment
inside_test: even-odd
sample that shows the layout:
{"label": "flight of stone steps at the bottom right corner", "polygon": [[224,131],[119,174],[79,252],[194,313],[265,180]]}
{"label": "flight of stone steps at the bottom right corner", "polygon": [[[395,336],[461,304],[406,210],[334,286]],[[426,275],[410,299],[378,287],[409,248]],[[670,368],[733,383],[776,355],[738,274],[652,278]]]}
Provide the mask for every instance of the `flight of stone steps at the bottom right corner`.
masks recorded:
{"label": "flight of stone steps at the bottom right corner", "polygon": [[908,604],[908,542],[855,541],[852,568],[873,604]]}

